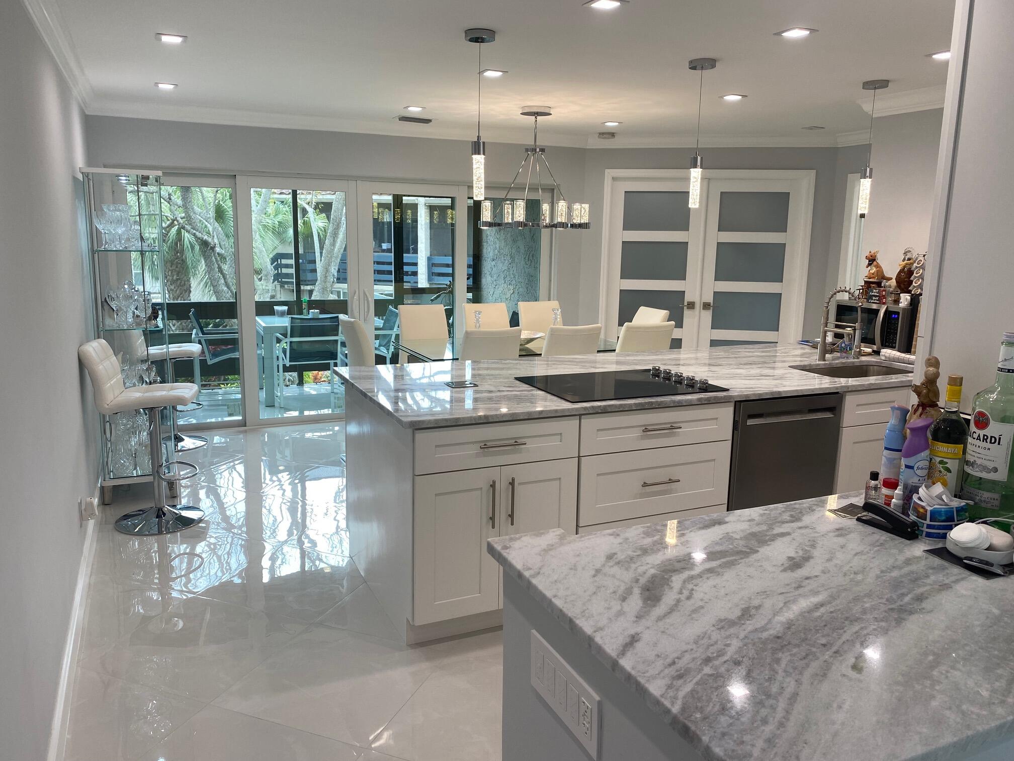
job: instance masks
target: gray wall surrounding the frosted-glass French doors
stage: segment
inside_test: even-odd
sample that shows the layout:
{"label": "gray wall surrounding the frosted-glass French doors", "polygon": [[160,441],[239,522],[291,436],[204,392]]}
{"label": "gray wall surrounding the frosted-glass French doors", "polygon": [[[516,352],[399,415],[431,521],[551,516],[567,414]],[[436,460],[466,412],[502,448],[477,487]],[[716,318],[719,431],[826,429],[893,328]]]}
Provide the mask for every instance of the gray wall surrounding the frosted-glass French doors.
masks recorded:
{"label": "gray wall surrounding the frosted-glass French doors", "polygon": [[[589,150],[584,186],[592,218],[601,219],[605,169],[686,168],[693,153],[691,148]],[[838,275],[845,190],[843,187],[843,206],[836,210],[836,189],[847,182],[850,171],[862,169],[866,162],[865,147],[861,152],[853,148],[708,148],[702,151],[702,155],[709,169],[816,169],[803,322],[805,334],[816,334],[820,308],[827,292],[829,267],[834,268],[835,277]],[[832,239],[831,230],[836,222],[838,237]],[[598,312],[601,246],[599,226],[597,232],[593,230],[592,234],[585,236],[581,252],[581,314],[587,321]]]}

